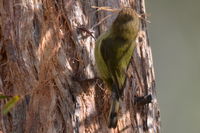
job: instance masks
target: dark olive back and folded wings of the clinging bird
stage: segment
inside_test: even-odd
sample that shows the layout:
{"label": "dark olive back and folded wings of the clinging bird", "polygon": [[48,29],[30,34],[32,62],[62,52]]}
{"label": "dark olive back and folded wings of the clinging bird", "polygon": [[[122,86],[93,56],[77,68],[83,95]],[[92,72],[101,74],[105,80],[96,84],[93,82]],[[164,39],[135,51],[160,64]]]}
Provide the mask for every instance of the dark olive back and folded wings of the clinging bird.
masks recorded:
{"label": "dark olive back and folded wings of the clinging bird", "polygon": [[[107,37],[101,42],[101,54],[115,83],[117,92],[123,92],[126,70],[133,54],[134,45],[126,45],[124,40],[113,41],[112,37]],[[123,45],[121,45],[123,44]]]}

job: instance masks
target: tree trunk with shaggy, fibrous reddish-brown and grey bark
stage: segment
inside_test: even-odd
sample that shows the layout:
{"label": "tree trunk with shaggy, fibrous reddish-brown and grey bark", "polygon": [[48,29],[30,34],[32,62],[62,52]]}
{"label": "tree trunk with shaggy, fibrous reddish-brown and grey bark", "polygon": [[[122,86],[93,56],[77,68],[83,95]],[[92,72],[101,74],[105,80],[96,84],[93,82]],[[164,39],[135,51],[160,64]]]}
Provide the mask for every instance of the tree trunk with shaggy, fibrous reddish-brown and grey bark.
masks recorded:
{"label": "tree trunk with shaggy, fibrous reddish-brown and grey bark", "polygon": [[[145,13],[144,0],[0,1],[0,92],[21,96],[7,115],[0,114],[0,132],[160,132],[144,20],[128,69],[118,126],[108,129],[110,92],[95,79],[93,36],[106,31],[117,14],[97,12],[92,6],[131,6]],[[138,102],[148,95],[150,103]],[[5,103],[1,101],[1,109]]]}

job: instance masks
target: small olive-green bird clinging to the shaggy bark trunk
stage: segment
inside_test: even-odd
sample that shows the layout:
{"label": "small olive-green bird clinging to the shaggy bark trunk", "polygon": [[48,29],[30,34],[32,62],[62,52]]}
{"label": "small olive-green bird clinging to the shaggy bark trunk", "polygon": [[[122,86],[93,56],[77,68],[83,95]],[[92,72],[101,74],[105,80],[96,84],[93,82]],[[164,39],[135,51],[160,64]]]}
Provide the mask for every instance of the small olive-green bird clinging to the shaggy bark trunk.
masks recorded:
{"label": "small olive-green bird clinging to the shaggy bark trunk", "polygon": [[116,128],[119,99],[122,98],[126,71],[136,47],[140,19],[131,8],[123,8],[111,28],[96,41],[95,60],[100,78],[111,89],[108,127]]}

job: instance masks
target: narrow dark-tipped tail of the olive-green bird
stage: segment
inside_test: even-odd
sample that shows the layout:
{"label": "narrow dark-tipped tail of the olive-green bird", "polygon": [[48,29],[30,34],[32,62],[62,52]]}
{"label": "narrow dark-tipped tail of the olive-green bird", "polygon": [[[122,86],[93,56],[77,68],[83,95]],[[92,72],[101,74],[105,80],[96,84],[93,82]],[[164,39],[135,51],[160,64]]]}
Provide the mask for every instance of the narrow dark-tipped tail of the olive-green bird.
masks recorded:
{"label": "narrow dark-tipped tail of the olive-green bird", "polygon": [[116,128],[119,111],[119,97],[115,93],[112,94],[111,108],[108,117],[108,128]]}

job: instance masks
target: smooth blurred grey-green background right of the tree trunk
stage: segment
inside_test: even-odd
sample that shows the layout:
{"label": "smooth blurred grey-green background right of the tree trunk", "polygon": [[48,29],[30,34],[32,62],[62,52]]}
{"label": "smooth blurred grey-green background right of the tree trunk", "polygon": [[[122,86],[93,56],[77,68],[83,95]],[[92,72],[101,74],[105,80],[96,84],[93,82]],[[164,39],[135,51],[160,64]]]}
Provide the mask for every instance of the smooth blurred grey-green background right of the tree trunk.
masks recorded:
{"label": "smooth blurred grey-green background right of the tree trunk", "polygon": [[200,133],[200,0],[146,0],[162,133]]}

